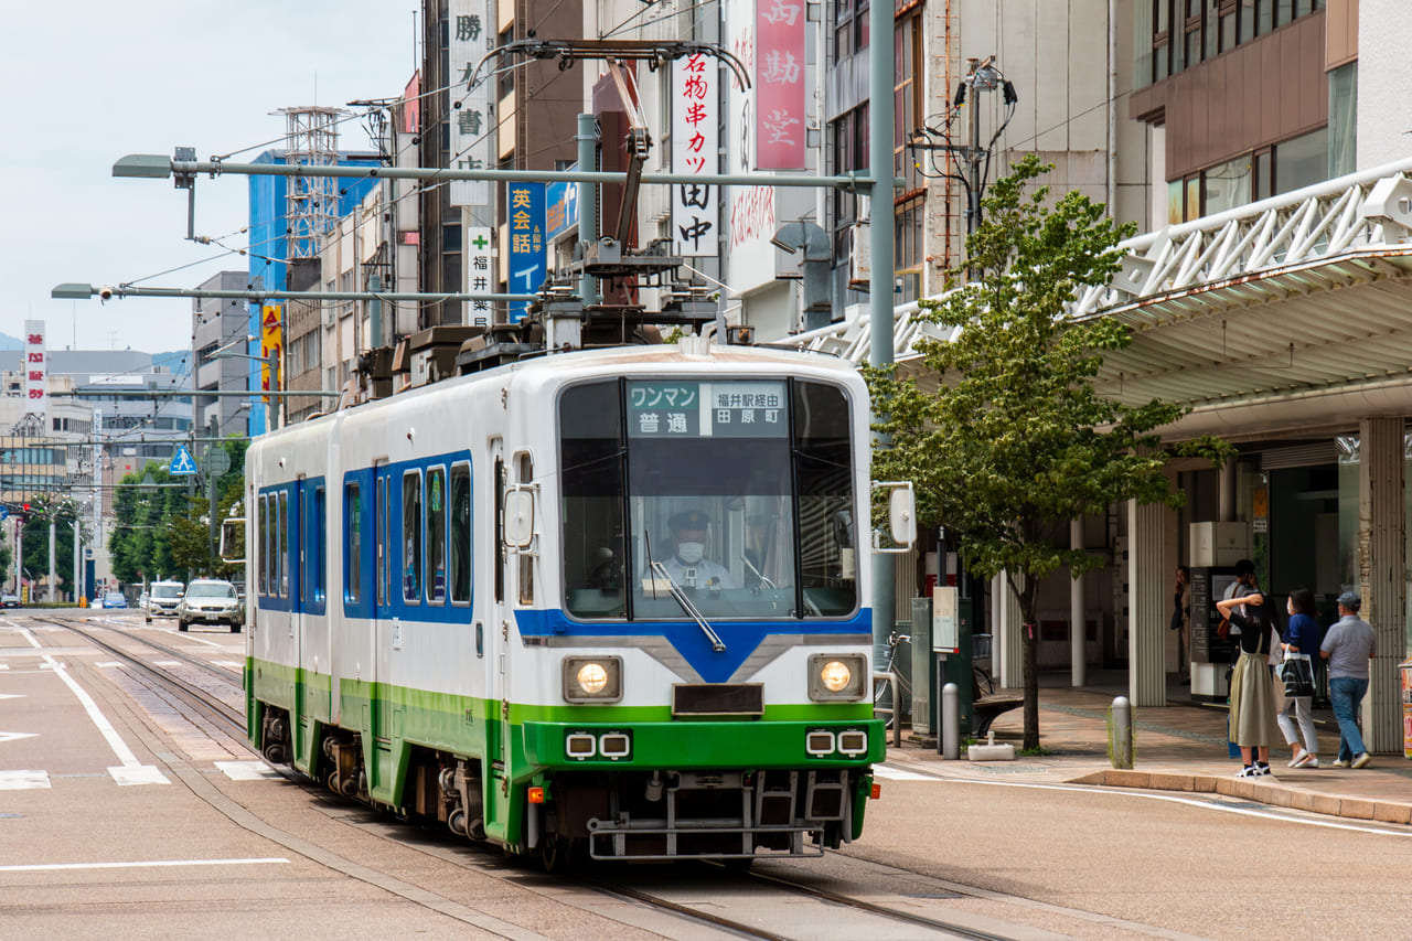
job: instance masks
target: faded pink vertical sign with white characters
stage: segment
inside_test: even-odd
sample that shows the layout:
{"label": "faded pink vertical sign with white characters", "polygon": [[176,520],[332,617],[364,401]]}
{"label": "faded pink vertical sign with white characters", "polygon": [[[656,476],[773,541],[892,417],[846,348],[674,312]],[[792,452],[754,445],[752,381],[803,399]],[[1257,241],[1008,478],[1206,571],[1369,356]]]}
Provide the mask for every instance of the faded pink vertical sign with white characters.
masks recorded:
{"label": "faded pink vertical sign with white characters", "polygon": [[803,0],[755,3],[755,155],[760,170],[803,170]]}

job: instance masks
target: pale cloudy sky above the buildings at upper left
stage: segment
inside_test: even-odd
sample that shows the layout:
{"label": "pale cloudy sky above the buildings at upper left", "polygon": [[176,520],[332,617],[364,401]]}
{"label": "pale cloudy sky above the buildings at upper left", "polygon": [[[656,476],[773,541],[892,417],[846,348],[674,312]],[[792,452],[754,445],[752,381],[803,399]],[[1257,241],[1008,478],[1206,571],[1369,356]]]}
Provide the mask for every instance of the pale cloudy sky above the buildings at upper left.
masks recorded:
{"label": "pale cloudy sky above the buildings at upper left", "polygon": [[[186,192],[117,179],[127,154],[253,161],[291,106],[401,95],[417,68],[417,0],[71,0],[7,4],[0,30],[0,333],[47,322],[48,346],[191,346],[191,300],[56,301],[61,283],[196,287],[244,256],[186,242]],[[363,122],[340,148],[369,150]],[[247,150],[249,148],[249,150]],[[234,153],[243,151],[243,153]],[[249,178],[196,182],[196,235],[244,249]],[[196,264],[192,264],[196,263]],[[192,266],[192,267],[182,267]],[[181,270],[172,270],[181,268]],[[165,273],[165,274],[162,274]],[[155,276],[155,277],[154,277]]]}

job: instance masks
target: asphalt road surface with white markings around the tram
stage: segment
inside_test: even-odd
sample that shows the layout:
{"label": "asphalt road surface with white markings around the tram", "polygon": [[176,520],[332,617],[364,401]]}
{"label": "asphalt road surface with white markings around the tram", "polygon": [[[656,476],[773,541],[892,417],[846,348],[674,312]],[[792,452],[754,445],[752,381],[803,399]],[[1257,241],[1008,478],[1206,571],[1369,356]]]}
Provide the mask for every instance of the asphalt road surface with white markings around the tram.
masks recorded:
{"label": "asphalt road surface with white markings around the tram", "polygon": [[[244,643],[154,627],[212,663]],[[0,617],[0,938],[738,937],[260,773],[256,757],[110,656]],[[858,844],[755,869],[1012,938],[1402,938],[1409,841],[1211,795],[884,780]],[[931,937],[710,866],[613,877],[788,938]]]}

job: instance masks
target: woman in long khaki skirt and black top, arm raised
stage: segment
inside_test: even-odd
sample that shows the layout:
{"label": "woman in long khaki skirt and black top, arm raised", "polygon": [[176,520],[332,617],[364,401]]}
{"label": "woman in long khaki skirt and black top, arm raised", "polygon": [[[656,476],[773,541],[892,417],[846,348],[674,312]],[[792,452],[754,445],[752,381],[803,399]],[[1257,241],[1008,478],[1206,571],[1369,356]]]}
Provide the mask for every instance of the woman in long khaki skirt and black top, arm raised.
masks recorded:
{"label": "woman in long khaki skirt and black top, arm raised", "polygon": [[1254,591],[1223,598],[1216,602],[1216,609],[1240,629],[1240,660],[1231,671],[1230,718],[1230,740],[1240,747],[1244,764],[1237,777],[1269,774],[1269,746],[1279,735],[1275,687],[1269,674],[1274,612],[1265,596]]}

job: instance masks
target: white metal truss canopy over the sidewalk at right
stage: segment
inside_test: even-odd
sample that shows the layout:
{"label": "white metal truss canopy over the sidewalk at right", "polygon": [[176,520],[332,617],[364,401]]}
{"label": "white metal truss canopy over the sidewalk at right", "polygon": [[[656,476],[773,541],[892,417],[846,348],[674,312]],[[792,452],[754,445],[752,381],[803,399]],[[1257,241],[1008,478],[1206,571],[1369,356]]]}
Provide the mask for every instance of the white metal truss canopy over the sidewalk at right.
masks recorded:
{"label": "white metal truss canopy over the sidewalk at right", "polygon": [[[1412,160],[1130,239],[1113,283],[1066,315],[1115,316],[1132,343],[1104,357],[1097,386],[1128,404],[1193,410],[1173,430],[1257,434],[1309,421],[1412,414]],[[894,355],[945,332],[894,314]],[[857,318],[794,338],[854,362]]]}

